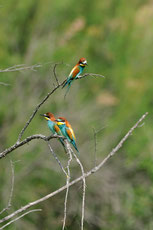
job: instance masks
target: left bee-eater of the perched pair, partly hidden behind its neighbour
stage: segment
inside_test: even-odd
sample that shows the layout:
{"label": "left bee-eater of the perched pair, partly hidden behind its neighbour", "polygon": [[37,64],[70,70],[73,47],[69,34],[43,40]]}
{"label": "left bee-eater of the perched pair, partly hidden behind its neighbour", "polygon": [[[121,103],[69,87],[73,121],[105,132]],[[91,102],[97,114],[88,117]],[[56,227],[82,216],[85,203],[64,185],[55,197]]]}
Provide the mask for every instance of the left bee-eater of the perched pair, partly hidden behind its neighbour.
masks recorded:
{"label": "left bee-eater of the perched pair, partly hidden behind its neighbour", "polygon": [[[43,116],[48,121],[48,127],[52,131],[53,134],[62,136],[62,132],[60,128],[58,127],[58,125],[56,124],[56,119],[52,113],[47,112],[45,114],[40,114],[40,115]],[[64,140],[62,138],[60,138],[59,140],[65,149]]]}

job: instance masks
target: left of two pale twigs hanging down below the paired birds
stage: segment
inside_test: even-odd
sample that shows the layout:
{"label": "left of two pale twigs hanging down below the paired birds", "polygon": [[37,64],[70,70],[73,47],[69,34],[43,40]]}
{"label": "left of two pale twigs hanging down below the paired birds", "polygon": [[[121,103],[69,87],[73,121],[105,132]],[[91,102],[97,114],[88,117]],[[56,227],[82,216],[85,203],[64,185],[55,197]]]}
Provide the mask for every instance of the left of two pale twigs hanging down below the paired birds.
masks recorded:
{"label": "left of two pale twigs hanging down below the paired birds", "polygon": [[[69,148],[69,146],[67,144],[68,143],[67,140],[65,140],[65,143],[66,143],[66,148],[67,148],[67,154],[69,155],[69,159],[68,159],[68,162],[67,162],[68,177],[67,177],[67,180],[66,180],[66,185],[68,185],[70,183],[70,178],[71,178],[70,164],[71,164],[71,161],[72,161],[72,154],[71,154],[70,148]],[[65,200],[64,200],[64,218],[63,218],[62,230],[64,230],[65,223],[66,223],[68,194],[69,194],[69,186],[67,186],[67,188],[66,188],[66,194],[65,194]]]}

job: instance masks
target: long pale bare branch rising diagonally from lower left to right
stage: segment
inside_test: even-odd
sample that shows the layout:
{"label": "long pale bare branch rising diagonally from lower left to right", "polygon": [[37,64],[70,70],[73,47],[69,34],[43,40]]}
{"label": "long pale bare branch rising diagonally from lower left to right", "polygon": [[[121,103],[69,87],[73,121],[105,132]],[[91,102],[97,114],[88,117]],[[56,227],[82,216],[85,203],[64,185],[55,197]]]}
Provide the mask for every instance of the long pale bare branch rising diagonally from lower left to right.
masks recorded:
{"label": "long pale bare branch rising diagonally from lower left to right", "polygon": [[84,176],[80,176],[78,178],[76,178],[75,180],[71,181],[69,184],[66,184],[64,186],[62,186],[61,188],[57,189],[54,192],[51,192],[49,194],[47,194],[46,196],[35,200],[33,202],[30,202],[28,204],[26,204],[25,206],[19,208],[18,210],[16,210],[15,212],[9,214],[8,216],[5,216],[4,218],[2,218],[0,220],[0,223],[3,223],[4,221],[7,221],[9,219],[11,219],[12,217],[14,217],[15,215],[27,210],[28,208],[39,204],[41,202],[44,202],[45,200],[57,195],[58,193],[62,192],[63,190],[65,190],[67,187],[70,187],[76,183],[78,183],[79,181],[81,181],[83,178],[86,178],[88,176],[90,176],[91,174],[97,172],[98,170],[100,170],[100,168],[103,167],[103,165],[112,157],[114,156],[114,154],[122,147],[123,143],[128,139],[129,136],[131,136],[132,132],[138,127],[138,125],[146,118],[146,116],[148,115],[148,112],[146,112],[136,123],[134,126],[132,126],[132,128],[126,133],[126,135],[121,139],[121,141],[116,145],[116,147],[114,149],[112,149],[112,151],[104,158],[103,161],[101,161],[96,167],[92,168],[90,171],[88,171],[87,173],[84,174]]}

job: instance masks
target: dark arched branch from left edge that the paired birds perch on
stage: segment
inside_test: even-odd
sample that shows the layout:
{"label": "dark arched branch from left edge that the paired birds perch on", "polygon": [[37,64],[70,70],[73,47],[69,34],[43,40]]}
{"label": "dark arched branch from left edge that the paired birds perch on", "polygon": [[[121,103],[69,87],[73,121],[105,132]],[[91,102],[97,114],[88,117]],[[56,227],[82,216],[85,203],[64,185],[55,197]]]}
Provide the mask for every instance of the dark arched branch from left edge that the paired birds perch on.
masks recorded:
{"label": "dark arched branch from left edge that the paired birds perch on", "polygon": [[14,145],[12,145],[11,147],[9,147],[8,149],[5,149],[3,152],[0,153],[0,159],[5,157],[7,154],[9,154],[10,152],[14,151],[15,149],[21,147],[22,145],[25,145],[26,143],[34,140],[34,139],[42,139],[44,141],[49,141],[50,139],[53,139],[53,138],[63,138],[62,136],[58,136],[56,134],[54,135],[50,135],[48,137],[42,135],[42,134],[35,134],[35,135],[32,135],[32,136],[29,136],[27,138],[25,138],[23,141],[21,142],[17,142],[15,143]]}

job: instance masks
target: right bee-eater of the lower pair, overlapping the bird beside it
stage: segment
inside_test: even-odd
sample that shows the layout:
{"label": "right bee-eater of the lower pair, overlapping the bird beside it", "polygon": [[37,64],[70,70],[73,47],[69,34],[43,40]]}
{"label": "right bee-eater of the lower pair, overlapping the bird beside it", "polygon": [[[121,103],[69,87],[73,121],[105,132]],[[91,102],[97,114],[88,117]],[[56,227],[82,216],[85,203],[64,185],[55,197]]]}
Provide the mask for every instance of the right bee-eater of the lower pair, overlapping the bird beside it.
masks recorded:
{"label": "right bee-eater of the lower pair, overlapping the bird beside it", "polygon": [[74,146],[74,148],[79,152],[77,146],[76,146],[76,137],[74,134],[74,131],[70,125],[70,123],[64,118],[59,117],[57,120],[57,125],[59,126],[62,134],[64,137],[67,138],[67,140]]}

